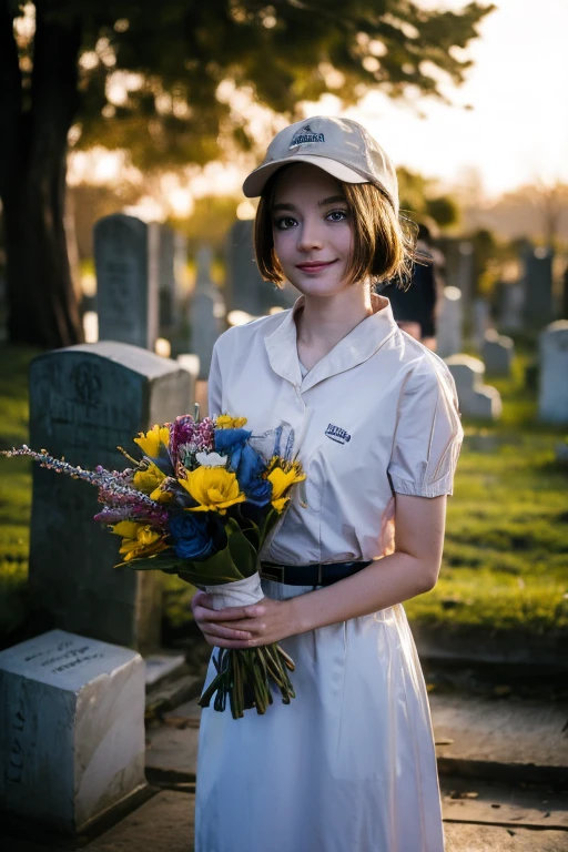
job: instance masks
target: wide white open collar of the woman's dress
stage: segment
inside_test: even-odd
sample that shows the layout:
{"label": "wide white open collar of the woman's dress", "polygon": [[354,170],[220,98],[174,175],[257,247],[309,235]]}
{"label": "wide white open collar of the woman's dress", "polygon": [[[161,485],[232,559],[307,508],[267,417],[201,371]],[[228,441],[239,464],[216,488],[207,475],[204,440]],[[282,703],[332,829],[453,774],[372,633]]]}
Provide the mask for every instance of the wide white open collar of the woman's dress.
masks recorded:
{"label": "wide white open collar of the woman's dress", "polygon": [[324,355],[302,379],[297,357],[295,316],[303,308],[304,303],[305,297],[300,296],[294,306],[286,311],[286,315],[278,327],[264,338],[273,371],[296,387],[302,387],[302,390],[308,390],[329,376],[363,364],[398,328],[388,298],[373,294],[373,314],[362,320],[355,328],[336,343],[333,349]]}

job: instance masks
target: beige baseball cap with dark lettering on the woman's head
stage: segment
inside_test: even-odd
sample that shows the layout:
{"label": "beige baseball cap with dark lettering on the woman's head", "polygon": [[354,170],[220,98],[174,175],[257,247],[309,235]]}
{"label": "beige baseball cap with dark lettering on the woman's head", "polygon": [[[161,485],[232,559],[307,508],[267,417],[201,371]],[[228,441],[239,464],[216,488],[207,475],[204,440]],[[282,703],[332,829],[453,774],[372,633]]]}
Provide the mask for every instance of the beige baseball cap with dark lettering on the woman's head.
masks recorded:
{"label": "beige baseball cap with dark lettering on the woman's head", "polygon": [[264,162],[243,183],[246,197],[262,195],[268,178],[288,163],[311,163],[344,183],[374,183],[388,195],[398,214],[393,161],[356,121],[315,115],[281,130]]}

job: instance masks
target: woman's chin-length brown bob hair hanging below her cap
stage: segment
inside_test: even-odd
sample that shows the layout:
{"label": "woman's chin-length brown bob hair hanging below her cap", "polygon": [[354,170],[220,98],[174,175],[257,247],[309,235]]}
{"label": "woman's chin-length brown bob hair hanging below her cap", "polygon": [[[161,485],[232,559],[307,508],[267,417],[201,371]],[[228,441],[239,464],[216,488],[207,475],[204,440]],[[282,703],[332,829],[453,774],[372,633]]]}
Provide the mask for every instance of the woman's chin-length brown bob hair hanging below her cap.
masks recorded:
{"label": "woman's chin-length brown bob hair hanging below her cap", "polygon": [[[283,166],[287,169],[290,166]],[[272,175],[261,195],[254,222],[254,250],[258,272],[265,281],[281,287],[284,272],[274,251],[272,204],[276,179]],[[373,183],[343,183],[353,222],[353,255],[347,270],[353,282],[371,278],[372,285],[398,278],[405,286],[412,275],[417,226],[399,220],[387,195]]]}

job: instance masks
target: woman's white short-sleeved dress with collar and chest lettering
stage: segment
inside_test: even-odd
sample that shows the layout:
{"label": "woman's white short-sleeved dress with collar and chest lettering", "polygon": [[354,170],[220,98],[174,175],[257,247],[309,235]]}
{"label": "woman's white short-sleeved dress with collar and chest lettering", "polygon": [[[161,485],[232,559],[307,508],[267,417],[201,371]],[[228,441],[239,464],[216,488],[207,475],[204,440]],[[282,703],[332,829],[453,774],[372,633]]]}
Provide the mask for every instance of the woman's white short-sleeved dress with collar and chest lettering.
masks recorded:
{"label": "woman's white short-sleeved dress with collar and chest lettering", "polygon": [[[247,416],[254,435],[293,445],[304,463],[305,488],[264,558],[381,558],[393,552],[395,491],[452,494],[455,387],[384,297],[302,376],[301,306],[217,341],[210,412]],[[274,599],[312,588],[263,580]],[[195,852],[443,852],[428,700],[404,607],[281,643],[296,663],[290,706],[275,697],[265,716],[239,720],[202,712]],[[207,683],[213,676],[210,665]]]}

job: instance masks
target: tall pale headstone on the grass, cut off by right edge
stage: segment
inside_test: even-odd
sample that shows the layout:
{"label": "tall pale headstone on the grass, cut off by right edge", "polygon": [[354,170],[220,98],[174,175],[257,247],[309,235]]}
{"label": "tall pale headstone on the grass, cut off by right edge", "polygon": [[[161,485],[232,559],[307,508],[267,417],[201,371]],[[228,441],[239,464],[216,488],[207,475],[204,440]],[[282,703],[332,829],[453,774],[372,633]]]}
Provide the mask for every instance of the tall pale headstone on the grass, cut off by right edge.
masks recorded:
{"label": "tall pale headstone on the grass, cut off by right edge", "polygon": [[539,419],[568,424],[568,320],[558,320],[547,326],[539,345]]}

